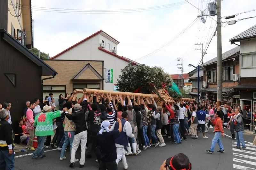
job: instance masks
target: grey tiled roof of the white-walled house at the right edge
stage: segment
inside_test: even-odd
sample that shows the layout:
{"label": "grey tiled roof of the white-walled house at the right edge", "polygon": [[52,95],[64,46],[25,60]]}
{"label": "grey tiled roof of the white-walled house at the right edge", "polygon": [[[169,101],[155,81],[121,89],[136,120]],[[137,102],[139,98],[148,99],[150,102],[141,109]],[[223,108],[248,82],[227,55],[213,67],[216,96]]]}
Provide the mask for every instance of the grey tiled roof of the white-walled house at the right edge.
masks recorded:
{"label": "grey tiled roof of the white-walled house at the right edge", "polygon": [[240,34],[236,35],[232,39],[229,39],[229,41],[231,41],[231,44],[233,44],[236,41],[251,39],[255,37],[256,37],[256,25],[253,25],[251,28],[245,30],[244,32],[241,32]]}

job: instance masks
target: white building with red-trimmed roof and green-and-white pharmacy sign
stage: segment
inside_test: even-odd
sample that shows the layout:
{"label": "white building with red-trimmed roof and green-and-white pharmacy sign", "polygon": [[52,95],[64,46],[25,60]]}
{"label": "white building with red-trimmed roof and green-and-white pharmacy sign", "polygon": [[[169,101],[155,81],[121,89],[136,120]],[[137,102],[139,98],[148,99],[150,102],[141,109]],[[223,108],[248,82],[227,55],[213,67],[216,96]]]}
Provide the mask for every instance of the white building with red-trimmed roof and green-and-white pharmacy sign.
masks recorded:
{"label": "white building with red-trimmed roof and green-and-white pharmacy sign", "polygon": [[[122,69],[128,64],[139,65],[117,55],[119,41],[100,30],[53,56],[51,60],[101,60],[104,61],[104,90],[115,90],[115,84]],[[110,73],[109,73],[110,72]]]}

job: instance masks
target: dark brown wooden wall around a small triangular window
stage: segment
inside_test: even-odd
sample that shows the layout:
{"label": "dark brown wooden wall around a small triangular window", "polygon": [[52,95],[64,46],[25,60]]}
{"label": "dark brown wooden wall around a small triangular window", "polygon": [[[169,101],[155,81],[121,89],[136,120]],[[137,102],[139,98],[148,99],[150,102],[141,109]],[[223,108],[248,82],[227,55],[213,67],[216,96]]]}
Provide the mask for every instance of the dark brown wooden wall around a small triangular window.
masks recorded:
{"label": "dark brown wooden wall around a small triangular window", "polygon": [[[42,98],[42,67],[37,66],[2,38],[0,47],[0,102],[11,102],[12,127],[16,127],[17,121],[23,115],[26,101]],[[4,73],[16,74],[16,87]]]}

